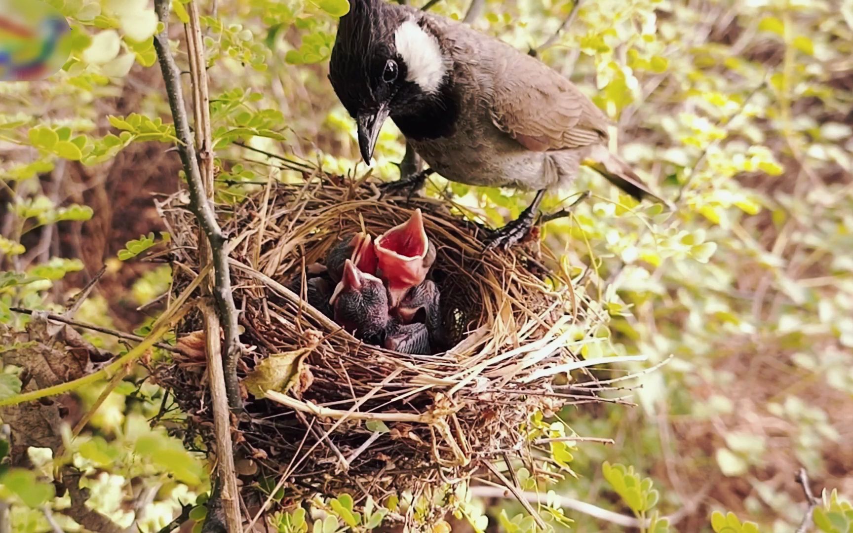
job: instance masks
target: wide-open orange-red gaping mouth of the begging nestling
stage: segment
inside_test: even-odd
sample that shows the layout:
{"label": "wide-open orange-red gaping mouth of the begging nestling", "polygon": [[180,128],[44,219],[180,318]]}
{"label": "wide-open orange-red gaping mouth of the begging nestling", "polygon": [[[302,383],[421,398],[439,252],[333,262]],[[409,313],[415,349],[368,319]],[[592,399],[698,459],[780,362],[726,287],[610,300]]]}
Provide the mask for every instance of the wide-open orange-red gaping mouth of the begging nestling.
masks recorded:
{"label": "wide-open orange-red gaping mouth of the begging nestling", "polygon": [[406,222],[377,237],[374,249],[392,308],[397,307],[411,287],[427,278],[436,257],[435,247],[427,239],[420,209]]}

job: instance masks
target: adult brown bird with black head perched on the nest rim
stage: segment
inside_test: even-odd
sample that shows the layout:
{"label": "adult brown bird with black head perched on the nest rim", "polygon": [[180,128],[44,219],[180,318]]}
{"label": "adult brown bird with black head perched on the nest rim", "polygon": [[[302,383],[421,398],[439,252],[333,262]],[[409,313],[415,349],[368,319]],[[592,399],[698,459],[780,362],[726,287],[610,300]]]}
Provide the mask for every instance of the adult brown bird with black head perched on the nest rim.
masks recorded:
{"label": "adult brown bird with black head perched on the nest rim", "polygon": [[[490,236],[489,247],[521,240],[545,192],[570,185],[587,158],[628,194],[660,200],[608,151],[610,121],[574,84],[455,20],[383,0],[351,0],[329,80],[356,119],[368,164],[391,117],[430,171],[454,182],[536,191],[518,219]],[[406,184],[420,187],[426,177],[422,172]]]}

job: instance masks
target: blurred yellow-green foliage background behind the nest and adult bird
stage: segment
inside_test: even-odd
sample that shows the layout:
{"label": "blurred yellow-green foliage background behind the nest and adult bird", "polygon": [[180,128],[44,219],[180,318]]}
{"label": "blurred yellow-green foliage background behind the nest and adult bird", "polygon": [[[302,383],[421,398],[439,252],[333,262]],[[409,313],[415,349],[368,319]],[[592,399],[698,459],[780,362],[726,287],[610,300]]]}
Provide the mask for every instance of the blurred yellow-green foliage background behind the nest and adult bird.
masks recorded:
{"label": "blurred yellow-green foliage background behind the nest and adult bird", "polygon": [[[167,151],[175,137],[152,44],[158,20],[148,0],[49,3],[71,22],[71,59],[45,81],[0,83],[0,323],[29,320],[11,306],[63,310],[106,264],[76,318],[145,333],[171,286],[170,267],[147,260],[168,241],[155,204],[177,190],[180,171]],[[597,0],[559,32],[572,4],[487,0],[472,24],[537,49],[572,78],[618,124],[624,158],[676,203],[661,213],[582,173],[577,191],[591,191],[589,199],[543,231],[566,268],[591,281],[608,317],[605,340],[583,356],[647,356],[630,371],[673,357],[632,382],[635,408],[561,413],[577,435],[614,443],[578,442],[577,477],[540,490],[640,514],[612,478],[623,474],[602,471],[611,461],[653,480],[671,530],[721,531],[722,515],[712,524],[711,513],[731,511],[762,531],[794,531],[807,506],[795,478],[801,466],[815,490],[853,494],[853,2]],[[344,0],[200,2],[218,201],[239,201],[268,179],[300,179],[264,152],[333,174],[365,170],[326,79],[334,15],[346,8]],[[186,65],[177,24],[185,5],[172,9],[170,37]],[[467,9],[467,0],[432,7],[457,19]],[[374,174],[396,179],[403,143],[390,123],[376,154]],[[453,194],[495,224],[528,200],[440,177],[427,194]],[[84,336],[127,350],[107,335]],[[20,391],[20,378],[7,365],[0,396]],[[72,420],[102,387],[78,391]],[[144,531],[209,490],[195,450],[166,435],[183,414],[164,416],[165,403],[137,368],[68,443],[68,461],[87,472],[90,507],[125,526],[136,519]],[[0,479],[15,531],[48,531],[44,509],[70,505],[44,481],[51,455],[43,452],[30,452],[35,470]],[[478,529],[485,514],[490,528],[525,530],[499,519],[502,510],[513,517],[520,507],[486,498],[469,511]],[[574,530],[621,530],[566,514]],[[844,520],[833,527],[853,524]],[[730,530],[740,530],[734,522]]]}

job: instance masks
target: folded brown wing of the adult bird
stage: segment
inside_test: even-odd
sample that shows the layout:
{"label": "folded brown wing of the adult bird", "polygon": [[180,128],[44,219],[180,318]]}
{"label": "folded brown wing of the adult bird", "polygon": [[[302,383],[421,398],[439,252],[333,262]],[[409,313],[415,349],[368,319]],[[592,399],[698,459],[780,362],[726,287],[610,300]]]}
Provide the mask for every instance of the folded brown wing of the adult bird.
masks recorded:
{"label": "folded brown wing of the adult bird", "polygon": [[537,152],[606,142],[609,121],[572,82],[528,55],[505,59],[490,102],[498,129]]}

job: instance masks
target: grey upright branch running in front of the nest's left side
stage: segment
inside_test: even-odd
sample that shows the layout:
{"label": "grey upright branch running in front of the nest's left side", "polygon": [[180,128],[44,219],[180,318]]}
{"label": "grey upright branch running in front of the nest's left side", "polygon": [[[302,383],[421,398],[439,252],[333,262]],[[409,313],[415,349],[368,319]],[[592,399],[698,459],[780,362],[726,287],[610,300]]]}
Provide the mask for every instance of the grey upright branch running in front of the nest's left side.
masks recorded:
{"label": "grey upright branch running in front of the nest's left side", "polygon": [[[240,334],[237,325],[237,309],[234,297],[231,294],[231,276],[228,263],[228,243],[223,235],[222,229],[213,211],[212,202],[207,197],[204,177],[201,175],[199,162],[196,159],[195,143],[189,130],[187,109],[183,101],[183,90],[181,88],[181,71],[177,68],[175,58],[171,55],[168,38],[169,24],[169,0],[154,0],[154,9],[160,22],[163,23],[163,32],[154,38],[154,48],[157,50],[157,58],[160,61],[160,70],[163,72],[166,93],[169,96],[169,107],[171,116],[175,122],[175,134],[181,141],[177,145],[177,152],[181,156],[183,170],[187,175],[189,186],[189,210],[193,212],[204,231],[210,245],[213,263],[213,299],[216,303],[219,318],[222,322],[224,341],[222,345],[222,359],[225,379],[225,389],[228,391],[228,403],[230,408],[242,408],[240,396],[240,385],[237,381],[237,361],[241,354]],[[195,25],[198,24],[198,11],[194,11]],[[200,43],[194,43],[194,61],[196,69],[204,69],[203,52]],[[201,61],[198,57],[201,55]],[[197,74],[194,74],[197,77]],[[198,102],[200,105],[203,102]],[[204,116],[202,114],[202,116]],[[200,130],[205,130],[204,125],[196,125]],[[209,130],[207,130],[209,131]],[[206,135],[206,131],[203,131]],[[212,146],[210,139],[206,138],[206,144],[201,149],[209,154]],[[206,165],[207,165],[206,160]]]}

